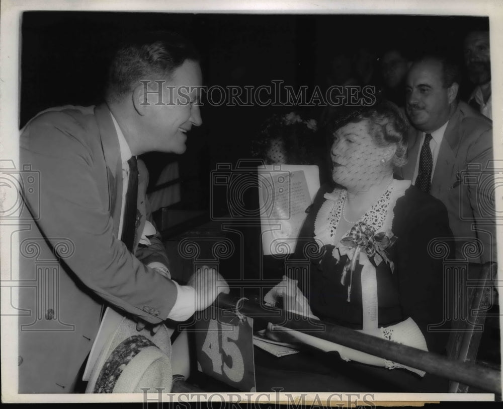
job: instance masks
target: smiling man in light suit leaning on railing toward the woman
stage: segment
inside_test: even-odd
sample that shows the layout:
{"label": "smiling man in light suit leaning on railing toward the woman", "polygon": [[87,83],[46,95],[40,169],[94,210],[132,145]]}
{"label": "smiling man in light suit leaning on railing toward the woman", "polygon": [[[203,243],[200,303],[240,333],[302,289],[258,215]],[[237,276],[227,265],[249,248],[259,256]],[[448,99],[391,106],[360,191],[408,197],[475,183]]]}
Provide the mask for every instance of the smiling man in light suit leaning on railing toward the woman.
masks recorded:
{"label": "smiling man in light suit leaning on railing toward the woman", "polygon": [[21,164],[39,172],[41,195],[25,194],[31,220],[19,241],[20,393],[74,390],[104,302],[141,327],[184,321],[228,292],[213,269],[187,286],[171,280],[150,224],[146,167],[135,160],[185,151],[202,123],[201,81],[183,38],[145,35],[116,53],[106,103],[52,108],[23,129]]}

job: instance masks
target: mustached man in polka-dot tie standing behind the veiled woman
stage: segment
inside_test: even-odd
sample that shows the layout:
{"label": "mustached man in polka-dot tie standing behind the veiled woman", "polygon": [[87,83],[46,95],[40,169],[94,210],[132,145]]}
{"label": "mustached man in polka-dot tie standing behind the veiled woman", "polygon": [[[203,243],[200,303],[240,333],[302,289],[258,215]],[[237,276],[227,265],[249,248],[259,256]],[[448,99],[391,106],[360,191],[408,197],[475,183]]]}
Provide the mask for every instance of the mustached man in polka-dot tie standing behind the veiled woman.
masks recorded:
{"label": "mustached man in polka-dot tie standing behind the veiled woman", "polygon": [[457,258],[496,261],[492,122],[457,100],[457,73],[440,57],[410,67],[406,112],[412,126],[402,176],[444,202]]}

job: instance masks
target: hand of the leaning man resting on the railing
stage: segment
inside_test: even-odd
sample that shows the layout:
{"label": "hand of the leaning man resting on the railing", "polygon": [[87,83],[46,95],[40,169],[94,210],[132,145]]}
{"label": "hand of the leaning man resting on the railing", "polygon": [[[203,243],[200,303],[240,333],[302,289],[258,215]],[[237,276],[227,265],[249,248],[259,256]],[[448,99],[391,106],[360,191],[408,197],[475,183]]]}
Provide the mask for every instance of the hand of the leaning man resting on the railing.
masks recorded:
{"label": "hand of the leaning man resting on the railing", "polygon": [[218,294],[229,294],[229,286],[217,270],[203,265],[198,268],[187,283],[196,291],[196,311],[208,308]]}

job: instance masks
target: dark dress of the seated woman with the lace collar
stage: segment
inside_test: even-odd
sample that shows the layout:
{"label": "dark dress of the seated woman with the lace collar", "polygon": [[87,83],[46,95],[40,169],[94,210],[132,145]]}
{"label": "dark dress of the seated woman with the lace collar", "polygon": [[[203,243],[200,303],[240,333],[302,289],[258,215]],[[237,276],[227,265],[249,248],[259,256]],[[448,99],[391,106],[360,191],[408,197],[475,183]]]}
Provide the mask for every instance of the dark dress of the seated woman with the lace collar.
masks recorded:
{"label": "dark dress of the seated woman with the lace collar", "polygon": [[[324,194],[333,187],[322,186],[304,222],[299,243],[308,245],[314,236],[314,222],[325,201]],[[405,190],[393,209],[392,231],[397,237],[389,250],[394,262],[391,272],[381,262],[376,268],[379,326],[391,325],[411,317],[422,330],[428,350],[445,353],[448,332],[428,331],[429,324],[444,321],[443,259],[429,250],[433,239],[445,238],[452,251],[452,233],[447,211],[442,202],[415,186]],[[293,257],[303,257],[303,245],[297,245]],[[308,277],[292,275],[299,281],[315,315],[327,322],[362,328],[361,266],[355,270],[351,302],[347,287],[341,284],[347,256],[339,262],[332,257],[333,246],[325,246],[324,255],[310,259]],[[306,274],[306,273],[304,273]],[[283,358],[256,349],[257,390],[283,387],[292,391],[425,391],[447,390],[447,380],[426,374],[421,378],[407,370],[374,367],[358,362],[345,362],[337,353],[324,353],[315,358],[300,353]],[[265,354],[265,355],[264,355]],[[272,361],[272,362],[271,362]],[[265,388],[265,389],[264,389]],[[356,388],[356,389],[355,389]]]}

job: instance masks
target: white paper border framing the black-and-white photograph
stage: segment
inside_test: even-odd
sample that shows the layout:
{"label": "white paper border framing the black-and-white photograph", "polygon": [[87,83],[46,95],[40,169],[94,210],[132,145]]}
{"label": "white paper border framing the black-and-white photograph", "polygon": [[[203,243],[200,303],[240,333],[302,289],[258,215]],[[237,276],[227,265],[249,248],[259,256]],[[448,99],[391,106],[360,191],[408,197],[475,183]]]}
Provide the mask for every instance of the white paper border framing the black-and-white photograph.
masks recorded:
{"label": "white paper border framing the black-and-white photograph", "polygon": [[[499,3],[499,5],[498,5]],[[440,8],[441,7],[441,8]],[[239,4],[233,1],[219,1],[217,4],[208,4],[204,1],[180,0],[171,2],[150,2],[145,5],[136,1],[91,1],[73,2],[71,0],[4,0],[1,4],[1,33],[0,33],[0,156],[3,160],[12,160],[16,168],[19,165],[19,114],[20,114],[20,58],[21,58],[21,20],[24,11],[127,11],[127,12],[158,12],[158,13],[238,13],[238,14],[412,14],[412,15],[456,15],[456,16],[488,16],[491,42],[491,70],[492,70],[492,95],[493,95],[493,144],[494,158],[503,159],[503,7],[501,2],[494,1],[447,1],[438,0],[417,1],[391,1],[379,3],[376,8],[375,1],[341,1],[331,2],[318,0],[254,2],[253,8],[249,3]],[[496,86],[497,84],[497,86]],[[2,200],[5,197],[2,197]],[[503,200],[496,199],[496,211],[503,211]],[[5,262],[11,257],[9,240],[5,238],[8,233],[8,222],[0,224],[0,234],[4,238],[0,254],[2,259],[2,280],[11,279],[11,269],[15,272],[18,268],[17,260],[11,260],[10,265]],[[7,242],[7,243],[6,243]],[[497,242],[503,243],[503,229],[498,226]],[[501,259],[502,256],[500,255]],[[498,263],[501,275],[502,263]],[[10,267],[10,268],[9,268]],[[4,307],[4,304],[2,304]],[[500,316],[500,328],[501,328]],[[18,394],[17,377],[11,374],[17,373],[17,331],[9,331],[9,328],[17,327],[16,316],[1,316],[2,327],[2,400],[3,402],[143,402],[143,396],[138,394],[124,395],[91,395],[91,394]],[[211,395],[212,393],[208,393]],[[299,392],[299,395],[301,393]],[[361,395],[364,395],[362,393]],[[232,395],[236,395],[233,393]],[[243,394],[244,395],[244,394]],[[264,395],[257,393],[256,395]],[[270,393],[274,396],[274,393]],[[327,398],[330,393],[318,395],[309,393],[309,398]],[[280,393],[280,402],[288,403],[287,397]],[[149,394],[150,402],[155,402],[155,394]],[[264,400],[262,397],[259,400]],[[152,399],[152,400],[150,400]],[[375,393],[376,404],[393,404],[410,402],[421,404],[438,401],[461,401],[461,400],[491,400],[494,394],[433,394],[433,393]],[[232,401],[232,399],[230,400]],[[235,401],[235,399],[234,399]],[[364,402],[359,402],[362,404]]]}

